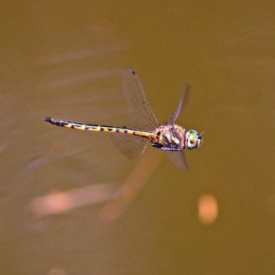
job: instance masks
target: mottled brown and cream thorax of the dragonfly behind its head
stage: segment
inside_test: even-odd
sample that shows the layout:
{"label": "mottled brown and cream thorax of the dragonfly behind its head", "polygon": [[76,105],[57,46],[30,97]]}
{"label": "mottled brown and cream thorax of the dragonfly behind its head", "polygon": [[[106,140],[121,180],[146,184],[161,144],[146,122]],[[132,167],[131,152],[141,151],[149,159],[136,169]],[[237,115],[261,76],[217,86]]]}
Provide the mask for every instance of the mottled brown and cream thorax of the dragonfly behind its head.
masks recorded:
{"label": "mottled brown and cream thorax of the dragonfly behind its head", "polygon": [[181,151],[186,144],[186,130],[176,124],[155,129],[152,146],[167,151]]}

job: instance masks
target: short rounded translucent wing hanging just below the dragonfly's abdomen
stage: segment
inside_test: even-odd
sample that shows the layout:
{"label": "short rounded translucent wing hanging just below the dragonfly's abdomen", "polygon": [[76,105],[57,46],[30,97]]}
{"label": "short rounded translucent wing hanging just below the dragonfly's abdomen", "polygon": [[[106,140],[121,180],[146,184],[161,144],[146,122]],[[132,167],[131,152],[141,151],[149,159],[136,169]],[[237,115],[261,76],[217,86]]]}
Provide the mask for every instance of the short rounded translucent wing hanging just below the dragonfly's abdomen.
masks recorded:
{"label": "short rounded translucent wing hanging just below the dragonfly's abdomen", "polygon": [[139,137],[137,135],[113,133],[111,137],[115,147],[117,147],[120,152],[129,159],[140,157],[148,144],[148,140],[145,137]]}

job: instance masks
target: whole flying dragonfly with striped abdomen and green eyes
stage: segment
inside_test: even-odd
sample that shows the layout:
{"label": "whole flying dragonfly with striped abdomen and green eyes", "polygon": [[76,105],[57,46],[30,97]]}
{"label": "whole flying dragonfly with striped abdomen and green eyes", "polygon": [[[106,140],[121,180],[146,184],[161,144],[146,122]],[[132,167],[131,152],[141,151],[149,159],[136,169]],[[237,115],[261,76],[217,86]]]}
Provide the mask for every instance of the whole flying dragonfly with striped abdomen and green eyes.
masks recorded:
{"label": "whole flying dragonfly with striped abdomen and green eyes", "polygon": [[142,155],[147,144],[151,142],[153,147],[164,150],[175,166],[187,168],[184,149],[198,148],[203,142],[201,134],[197,131],[192,129],[187,131],[175,124],[175,120],[184,107],[190,85],[185,85],[179,104],[164,125],[157,121],[148,104],[140,79],[133,69],[123,70],[122,90],[128,106],[127,113],[131,125],[129,127],[86,124],[50,117],[45,117],[43,120],[56,126],[72,129],[113,133],[113,144],[129,159]]}

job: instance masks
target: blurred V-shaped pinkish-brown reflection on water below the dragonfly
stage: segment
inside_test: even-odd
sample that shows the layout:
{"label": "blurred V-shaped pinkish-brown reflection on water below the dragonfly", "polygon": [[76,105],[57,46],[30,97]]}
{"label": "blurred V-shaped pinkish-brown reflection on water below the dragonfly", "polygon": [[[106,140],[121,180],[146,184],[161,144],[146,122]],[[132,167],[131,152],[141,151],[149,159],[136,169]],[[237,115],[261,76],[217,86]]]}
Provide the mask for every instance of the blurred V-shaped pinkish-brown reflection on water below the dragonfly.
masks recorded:
{"label": "blurred V-shaped pinkish-brown reflection on water below the dragonfly", "polygon": [[144,153],[144,157],[140,159],[120,188],[113,184],[93,184],[69,191],[52,191],[49,195],[32,199],[29,205],[30,211],[36,218],[42,218],[109,201],[100,211],[100,219],[113,221],[118,219],[137,197],[161,160],[162,157],[157,157],[153,152]]}

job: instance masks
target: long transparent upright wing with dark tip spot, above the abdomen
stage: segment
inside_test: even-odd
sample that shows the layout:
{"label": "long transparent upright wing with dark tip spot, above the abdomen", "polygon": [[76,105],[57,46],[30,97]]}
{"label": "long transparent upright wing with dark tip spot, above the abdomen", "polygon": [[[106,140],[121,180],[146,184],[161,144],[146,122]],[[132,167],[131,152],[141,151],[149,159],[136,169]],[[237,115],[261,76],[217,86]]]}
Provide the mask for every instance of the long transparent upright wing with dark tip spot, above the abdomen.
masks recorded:
{"label": "long transparent upright wing with dark tip spot, above the abdomen", "polygon": [[148,104],[140,79],[133,69],[122,72],[122,89],[128,105],[130,126],[142,131],[153,131],[159,122]]}

